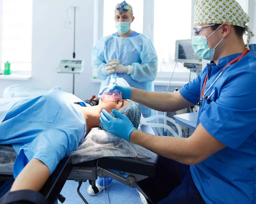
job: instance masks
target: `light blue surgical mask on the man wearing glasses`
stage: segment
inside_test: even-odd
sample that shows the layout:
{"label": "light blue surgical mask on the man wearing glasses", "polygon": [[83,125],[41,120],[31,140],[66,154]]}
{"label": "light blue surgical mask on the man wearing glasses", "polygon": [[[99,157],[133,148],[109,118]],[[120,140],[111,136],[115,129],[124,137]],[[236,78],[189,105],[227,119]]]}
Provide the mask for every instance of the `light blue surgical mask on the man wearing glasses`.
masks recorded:
{"label": "light blue surgical mask on the man wearing glasses", "polygon": [[[219,26],[220,27],[220,26]],[[219,28],[218,27],[218,28]],[[218,28],[215,30],[217,31]],[[212,33],[214,34],[215,31]],[[213,56],[214,56],[214,52],[215,52],[215,48],[221,43],[221,41],[224,39],[224,37],[221,39],[220,42],[218,42],[218,44],[213,48],[209,48],[208,44],[207,44],[207,39],[212,35],[210,34],[208,37],[203,36],[192,36],[192,46],[194,49],[195,54],[202,58],[202,59],[206,59],[206,60],[210,60],[212,61]]]}

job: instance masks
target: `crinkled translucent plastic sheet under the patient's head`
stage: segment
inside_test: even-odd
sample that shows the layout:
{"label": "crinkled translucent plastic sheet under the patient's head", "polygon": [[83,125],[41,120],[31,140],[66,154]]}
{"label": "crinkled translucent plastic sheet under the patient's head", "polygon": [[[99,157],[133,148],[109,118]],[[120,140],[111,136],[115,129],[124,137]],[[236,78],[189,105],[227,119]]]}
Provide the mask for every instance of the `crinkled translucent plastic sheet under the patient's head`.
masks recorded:
{"label": "crinkled translucent plastic sheet under the patient's head", "polygon": [[93,128],[83,143],[68,156],[72,156],[73,164],[105,156],[151,158],[148,150],[144,147],[128,142],[98,127]]}

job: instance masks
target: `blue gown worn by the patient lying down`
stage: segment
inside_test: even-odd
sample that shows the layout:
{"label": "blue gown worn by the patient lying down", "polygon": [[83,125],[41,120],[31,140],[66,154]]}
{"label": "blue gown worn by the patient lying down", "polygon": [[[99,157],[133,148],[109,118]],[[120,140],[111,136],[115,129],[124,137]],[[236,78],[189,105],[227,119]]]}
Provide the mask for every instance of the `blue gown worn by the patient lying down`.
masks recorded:
{"label": "blue gown worn by the patient lying down", "polygon": [[12,144],[18,154],[13,167],[15,178],[33,158],[46,164],[52,173],[58,162],[78,147],[86,123],[74,102],[82,101],[56,90],[19,99],[9,109],[0,124],[0,144]]}

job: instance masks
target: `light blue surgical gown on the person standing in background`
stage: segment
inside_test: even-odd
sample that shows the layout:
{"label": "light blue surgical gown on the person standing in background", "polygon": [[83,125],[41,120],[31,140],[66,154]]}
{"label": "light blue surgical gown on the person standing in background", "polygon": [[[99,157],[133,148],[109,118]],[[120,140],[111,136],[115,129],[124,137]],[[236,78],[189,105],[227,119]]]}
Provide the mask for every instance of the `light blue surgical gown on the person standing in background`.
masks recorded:
{"label": "light blue surgical gown on the person standing in background", "polygon": [[[132,65],[131,75],[126,73],[105,74],[108,59],[119,59],[122,65]],[[124,78],[131,87],[154,91],[157,76],[157,53],[150,38],[144,34],[131,33],[119,37],[117,33],[101,38],[92,51],[93,74],[102,80],[101,88],[109,84],[111,76]],[[151,116],[151,110],[140,105],[144,117]]]}

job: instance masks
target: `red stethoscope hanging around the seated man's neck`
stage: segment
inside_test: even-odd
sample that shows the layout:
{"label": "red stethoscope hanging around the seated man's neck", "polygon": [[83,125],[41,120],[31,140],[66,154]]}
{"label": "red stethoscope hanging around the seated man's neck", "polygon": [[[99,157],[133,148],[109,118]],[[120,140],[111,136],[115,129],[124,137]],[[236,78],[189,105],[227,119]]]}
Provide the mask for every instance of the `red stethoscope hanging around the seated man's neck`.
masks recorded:
{"label": "red stethoscope hanging around the seated man's neck", "polygon": [[204,92],[205,90],[205,85],[206,85],[206,82],[207,82],[207,79],[208,79],[208,74],[206,75],[205,79],[204,79],[204,85],[203,85],[203,88],[202,88],[202,92],[201,92],[201,97],[200,97],[200,100],[197,102],[197,105],[198,106],[202,106],[202,102],[203,102],[203,99],[206,99],[208,100],[213,94],[214,94],[214,90],[212,91],[212,93],[209,95],[209,96],[205,96],[205,94],[210,90],[210,88],[212,88],[212,86],[215,84],[215,82],[218,80],[218,78],[221,77],[221,74],[223,73],[223,71],[227,68],[227,66],[230,66],[232,64],[234,64],[235,62],[238,62],[242,57],[244,57],[244,55],[246,55],[248,52],[250,52],[247,48],[245,49],[244,53],[240,56],[240,57],[237,57],[236,59],[233,59],[231,62],[229,62],[222,70],[221,70],[221,73],[218,75],[218,77],[212,82],[212,84],[209,86],[209,88]]}

